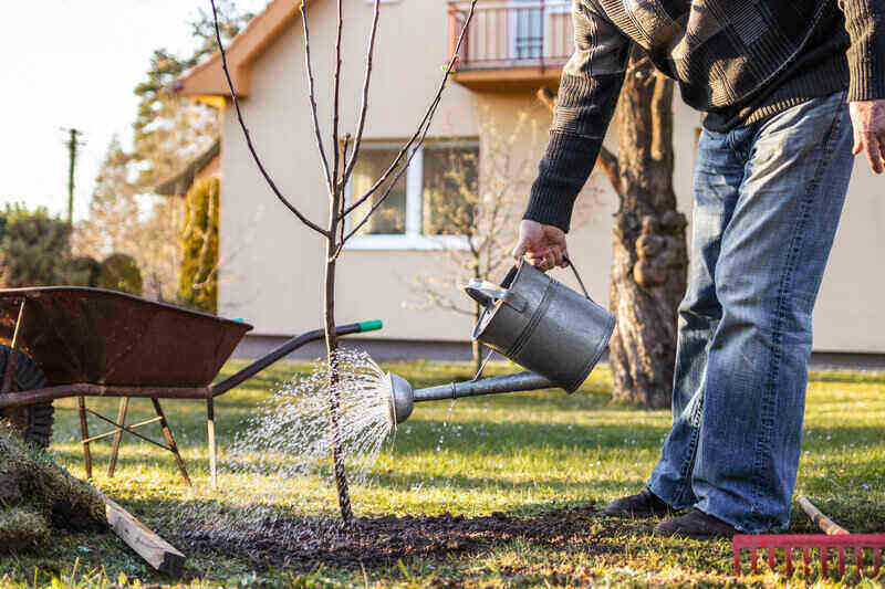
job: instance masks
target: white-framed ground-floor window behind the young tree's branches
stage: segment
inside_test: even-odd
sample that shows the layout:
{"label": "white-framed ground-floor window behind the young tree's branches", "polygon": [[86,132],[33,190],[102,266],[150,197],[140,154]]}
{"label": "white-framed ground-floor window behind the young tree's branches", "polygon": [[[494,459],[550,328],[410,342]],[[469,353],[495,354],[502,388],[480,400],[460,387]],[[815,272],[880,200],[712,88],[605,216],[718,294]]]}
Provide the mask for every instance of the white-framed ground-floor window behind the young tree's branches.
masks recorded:
{"label": "white-framed ground-floor window behind the young tree's branches", "polygon": [[[400,144],[365,143],[347,186],[348,200],[360,198],[389,167]],[[400,166],[405,164],[405,157]],[[470,202],[478,189],[479,143],[427,141],[391,194],[347,243],[361,250],[439,250],[465,248],[465,223],[472,222]],[[391,175],[392,177],[394,173]],[[388,182],[392,180],[388,179]],[[365,220],[385,185],[351,218]]]}

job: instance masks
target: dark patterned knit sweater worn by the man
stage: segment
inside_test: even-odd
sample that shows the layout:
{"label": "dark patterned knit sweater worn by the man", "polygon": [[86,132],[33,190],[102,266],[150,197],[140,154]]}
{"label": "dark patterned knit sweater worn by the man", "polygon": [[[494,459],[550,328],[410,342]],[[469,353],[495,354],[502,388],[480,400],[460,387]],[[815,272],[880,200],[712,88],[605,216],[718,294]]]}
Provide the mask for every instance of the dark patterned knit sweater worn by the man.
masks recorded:
{"label": "dark patterned knit sweater worn by the man", "polygon": [[883,0],[573,0],[572,20],[575,51],[523,215],[566,232],[633,43],[714,130],[845,88],[848,101],[885,98]]}

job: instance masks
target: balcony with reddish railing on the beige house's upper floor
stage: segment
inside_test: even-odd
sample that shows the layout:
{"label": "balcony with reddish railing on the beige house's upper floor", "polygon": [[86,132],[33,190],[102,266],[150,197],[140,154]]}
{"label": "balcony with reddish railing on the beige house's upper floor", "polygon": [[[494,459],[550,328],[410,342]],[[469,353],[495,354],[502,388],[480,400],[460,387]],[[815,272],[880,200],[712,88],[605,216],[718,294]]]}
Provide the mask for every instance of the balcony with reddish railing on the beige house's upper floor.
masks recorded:
{"label": "balcony with reddish railing on the beige house's upper floor", "polygon": [[[449,57],[469,11],[468,2],[449,2]],[[556,90],[573,48],[570,2],[480,0],[454,80],[481,92]]]}

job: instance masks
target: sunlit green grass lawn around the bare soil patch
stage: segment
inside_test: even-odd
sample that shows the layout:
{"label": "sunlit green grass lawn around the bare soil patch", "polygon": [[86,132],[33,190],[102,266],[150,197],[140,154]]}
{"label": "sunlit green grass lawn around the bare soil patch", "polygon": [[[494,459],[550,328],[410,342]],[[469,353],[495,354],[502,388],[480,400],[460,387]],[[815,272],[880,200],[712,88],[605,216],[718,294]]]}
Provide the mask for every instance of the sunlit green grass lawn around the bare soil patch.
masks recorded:
{"label": "sunlit green grass lawn around the bare soil patch", "polygon": [[[229,362],[222,376],[242,366]],[[416,387],[468,377],[467,365],[389,365]],[[281,362],[217,402],[219,445],[281,380],[305,365]],[[488,374],[508,370],[493,365]],[[115,400],[90,399],[116,414]],[[135,400],[128,421],[150,417]],[[126,437],[117,474],[104,470],[110,443],[93,444],[94,483],[160,535],[176,534],[183,505],[211,501],[205,406],[166,401],[184,460],[194,480],[186,487],[171,456]],[[52,452],[75,476],[84,476],[73,400],[56,402]],[[531,517],[563,506],[601,505],[638,491],[654,465],[670,423],[667,411],[637,411],[611,402],[611,374],[597,368],[582,389],[514,393],[421,403],[402,424],[374,466],[367,485],[353,490],[357,516],[492,512]],[[97,423],[92,425],[95,430]],[[221,477],[225,487],[253,481]],[[885,375],[813,372],[796,494],[805,494],[852,532],[885,532]],[[300,587],[582,587],[680,585],[779,586],[770,572],[731,577],[729,541],[701,544],[650,536],[655,520],[624,523],[594,514],[586,534],[563,541],[491,541],[478,550],[439,558],[403,559],[363,570],[329,564],[314,568],[256,567],[247,554],[179,545],[188,556],[180,582],[219,586]],[[813,528],[798,508],[793,532]],[[746,559],[745,559],[746,561]],[[155,574],[113,534],[63,536],[41,554],[0,557],[0,586],[107,586],[122,577],[142,585],[174,583]],[[881,586],[865,580],[862,586]],[[816,579],[812,579],[818,582]],[[789,582],[804,586],[801,575]],[[856,583],[852,580],[848,585]],[[820,586],[835,586],[834,581]]]}

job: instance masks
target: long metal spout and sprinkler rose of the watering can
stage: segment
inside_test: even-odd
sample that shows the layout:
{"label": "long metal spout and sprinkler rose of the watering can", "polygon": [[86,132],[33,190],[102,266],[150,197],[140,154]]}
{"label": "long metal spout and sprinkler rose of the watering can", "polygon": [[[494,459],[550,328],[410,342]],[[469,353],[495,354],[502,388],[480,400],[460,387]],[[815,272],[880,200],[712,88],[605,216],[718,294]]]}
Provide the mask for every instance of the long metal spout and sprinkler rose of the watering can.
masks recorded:
{"label": "long metal spout and sprinkler rose of the watering can", "polygon": [[391,391],[391,420],[394,423],[403,423],[407,420],[416,402],[560,387],[560,385],[541,375],[528,371],[464,382],[450,382],[418,390],[413,389],[408,380],[399,375],[387,372],[386,380],[387,389]]}

